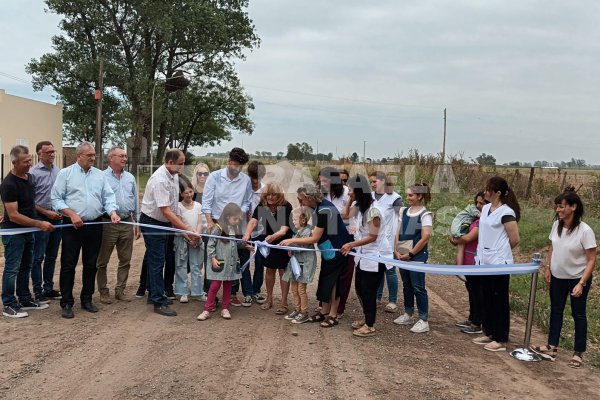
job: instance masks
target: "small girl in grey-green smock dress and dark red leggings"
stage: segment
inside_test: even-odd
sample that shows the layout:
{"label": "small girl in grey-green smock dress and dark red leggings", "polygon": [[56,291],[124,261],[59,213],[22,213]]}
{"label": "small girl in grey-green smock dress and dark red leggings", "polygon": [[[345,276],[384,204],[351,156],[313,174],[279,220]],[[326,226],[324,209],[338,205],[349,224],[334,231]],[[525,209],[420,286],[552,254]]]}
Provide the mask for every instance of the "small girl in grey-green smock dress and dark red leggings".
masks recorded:
{"label": "small girl in grey-green smock dress and dark red leggings", "polygon": [[[242,210],[237,204],[229,203],[223,209],[219,223],[215,225],[211,235],[241,237],[240,222]],[[207,252],[210,267],[206,268],[206,275],[211,280],[208,299],[204,303],[204,311],[198,315],[199,321],[207,319],[212,311],[216,311],[216,297],[221,283],[223,283],[223,308],[221,316],[231,319],[229,304],[231,302],[231,287],[242,277],[242,266],[238,258],[237,249],[241,242],[227,239],[210,238]]]}

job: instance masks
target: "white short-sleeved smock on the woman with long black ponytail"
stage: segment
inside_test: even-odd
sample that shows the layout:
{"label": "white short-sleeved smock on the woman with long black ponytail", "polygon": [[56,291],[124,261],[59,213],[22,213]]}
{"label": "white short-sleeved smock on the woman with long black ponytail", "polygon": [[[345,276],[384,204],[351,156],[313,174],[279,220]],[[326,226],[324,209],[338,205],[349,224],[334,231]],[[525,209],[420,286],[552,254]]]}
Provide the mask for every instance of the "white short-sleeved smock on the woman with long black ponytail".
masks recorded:
{"label": "white short-sleeved smock on the woman with long black ponytail", "polygon": [[506,233],[506,229],[504,229],[504,224],[502,223],[502,217],[512,215],[516,218],[516,214],[506,204],[502,204],[490,214],[491,207],[491,204],[486,204],[483,206],[483,210],[481,210],[479,242],[477,243],[475,264],[512,264],[512,249],[510,248],[508,233]]}

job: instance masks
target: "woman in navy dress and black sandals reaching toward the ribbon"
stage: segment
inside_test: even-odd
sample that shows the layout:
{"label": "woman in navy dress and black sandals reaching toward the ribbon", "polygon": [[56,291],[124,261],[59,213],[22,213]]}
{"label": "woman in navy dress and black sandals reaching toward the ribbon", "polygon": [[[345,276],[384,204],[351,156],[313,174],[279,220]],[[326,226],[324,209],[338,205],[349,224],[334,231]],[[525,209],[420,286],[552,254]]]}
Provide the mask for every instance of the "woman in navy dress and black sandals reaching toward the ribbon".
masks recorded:
{"label": "woman in navy dress and black sandals reaching toward the ribbon", "polygon": [[321,322],[321,327],[331,328],[338,324],[337,309],[341,294],[340,274],[348,265],[347,257],[332,249],[341,249],[352,239],[336,206],[326,200],[323,193],[312,184],[298,188],[300,205],[313,210],[316,226],[307,238],[292,238],[281,242],[283,246],[305,246],[317,243],[321,250],[321,269],[317,285],[317,300],[323,304],[321,311],[310,322]]}

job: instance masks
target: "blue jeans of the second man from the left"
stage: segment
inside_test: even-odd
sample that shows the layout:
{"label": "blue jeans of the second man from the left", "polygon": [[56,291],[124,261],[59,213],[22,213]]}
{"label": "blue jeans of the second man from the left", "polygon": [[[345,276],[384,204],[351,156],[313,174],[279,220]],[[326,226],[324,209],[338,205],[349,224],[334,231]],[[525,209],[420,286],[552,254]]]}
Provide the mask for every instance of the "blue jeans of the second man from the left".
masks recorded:
{"label": "blue jeans of the second man from the left", "polygon": [[[38,220],[48,221],[53,225],[61,224],[61,220],[51,220],[38,215]],[[53,232],[37,231],[33,233],[33,263],[31,264],[31,284],[36,296],[46,294],[54,289],[54,267],[60,247],[60,230]],[[44,267],[42,269],[42,262]]]}

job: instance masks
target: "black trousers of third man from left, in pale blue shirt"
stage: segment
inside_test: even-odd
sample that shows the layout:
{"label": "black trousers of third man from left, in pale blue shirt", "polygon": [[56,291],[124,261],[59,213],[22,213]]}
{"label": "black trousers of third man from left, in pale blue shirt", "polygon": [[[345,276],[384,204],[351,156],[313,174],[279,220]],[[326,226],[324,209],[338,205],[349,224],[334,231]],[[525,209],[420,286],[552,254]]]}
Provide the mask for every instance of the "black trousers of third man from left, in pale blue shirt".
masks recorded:
{"label": "black trousers of third man from left, in pale blue shirt", "polygon": [[[97,221],[100,221],[98,219]],[[65,224],[71,223],[65,218]],[[62,299],[60,306],[73,305],[73,285],[75,284],[75,267],[81,252],[82,289],[80,299],[82,303],[92,301],[96,285],[96,261],[102,244],[102,225],[85,225],[82,228],[63,228],[61,232],[62,250],[60,255],[59,287]]]}

